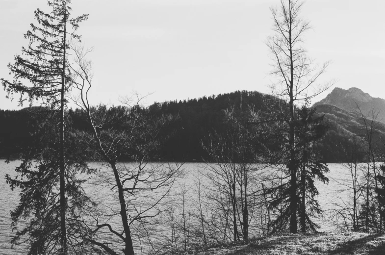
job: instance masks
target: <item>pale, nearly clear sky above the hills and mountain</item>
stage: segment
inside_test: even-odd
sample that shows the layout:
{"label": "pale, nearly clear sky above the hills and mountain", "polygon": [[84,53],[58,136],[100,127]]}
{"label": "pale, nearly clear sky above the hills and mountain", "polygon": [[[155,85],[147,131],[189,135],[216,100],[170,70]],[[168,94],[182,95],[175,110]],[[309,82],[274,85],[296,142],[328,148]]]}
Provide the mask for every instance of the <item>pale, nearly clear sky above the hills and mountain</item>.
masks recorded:
{"label": "pale, nearly clear sky above the hills and mountain", "polygon": [[[73,0],[85,47],[93,47],[93,104],[150,94],[146,102],[184,100],[257,90],[271,93],[265,44],[272,35],[270,7],[279,0]],[[0,0],[0,77],[28,41],[36,8],[46,0]],[[302,17],[308,56],[331,61],[320,82],[358,87],[385,99],[385,22],[382,0],[307,0]],[[326,97],[333,87],[313,99]],[[0,109],[18,109],[0,88]],[[26,105],[24,105],[26,106]]]}

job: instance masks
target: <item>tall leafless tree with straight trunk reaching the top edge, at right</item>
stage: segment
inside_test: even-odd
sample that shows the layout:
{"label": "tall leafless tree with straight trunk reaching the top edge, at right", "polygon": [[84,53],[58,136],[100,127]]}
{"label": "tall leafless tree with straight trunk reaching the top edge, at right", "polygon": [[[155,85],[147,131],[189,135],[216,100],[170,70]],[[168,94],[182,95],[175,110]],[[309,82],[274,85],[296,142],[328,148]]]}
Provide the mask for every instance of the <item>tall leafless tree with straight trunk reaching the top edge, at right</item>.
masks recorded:
{"label": "tall leafless tree with straight trunk reaching the top edge, at right", "polygon": [[274,35],[266,42],[273,60],[271,75],[276,77],[271,86],[273,95],[288,103],[289,114],[282,116],[288,124],[287,138],[289,160],[286,162],[290,172],[290,232],[297,233],[296,207],[298,199],[297,167],[295,165],[294,114],[296,102],[308,102],[331,87],[332,83],[317,84],[318,78],[329,65],[321,68],[314,65],[304,49],[303,36],[311,28],[308,21],[300,17],[303,2],[300,0],[281,0],[279,9],[272,8]]}

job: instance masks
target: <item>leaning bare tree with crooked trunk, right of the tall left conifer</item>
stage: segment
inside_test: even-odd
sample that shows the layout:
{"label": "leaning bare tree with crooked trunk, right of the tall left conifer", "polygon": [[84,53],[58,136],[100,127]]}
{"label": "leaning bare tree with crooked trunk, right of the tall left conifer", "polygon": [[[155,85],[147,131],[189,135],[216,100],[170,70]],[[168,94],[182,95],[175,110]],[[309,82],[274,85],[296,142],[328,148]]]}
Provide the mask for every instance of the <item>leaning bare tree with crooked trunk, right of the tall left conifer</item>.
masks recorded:
{"label": "leaning bare tree with crooked trunk, right of the tall left conifer", "polygon": [[[139,96],[135,102],[126,99],[126,106],[116,109],[108,109],[103,105],[90,106],[88,92],[92,87],[91,62],[86,58],[90,51],[82,47],[73,50],[75,60],[71,69],[76,76],[74,81],[79,92],[74,99],[90,123],[91,148],[97,150],[100,158],[111,169],[103,185],[117,195],[119,204],[118,209],[111,209],[109,218],[102,223],[98,213],[94,214],[95,226],[89,225],[89,232],[82,237],[107,254],[119,254],[112,244],[103,238],[97,238],[99,231],[108,229],[109,234],[117,239],[116,242],[123,245],[123,254],[133,255],[132,228],[138,231],[141,227],[151,242],[146,222],[166,210],[166,207],[161,206],[161,201],[166,198],[175,179],[180,175],[181,164],[173,166],[147,162],[149,156],[156,154],[161,144],[160,130],[172,118],[152,118],[147,114],[147,109],[139,106],[142,99]],[[133,160],[133,163],[119,164],[118,161],[123,157]],[[160,195],[155,196],[154,190],[160,190]],[[121,225],[109,223],[116,216],[120,217]]]}

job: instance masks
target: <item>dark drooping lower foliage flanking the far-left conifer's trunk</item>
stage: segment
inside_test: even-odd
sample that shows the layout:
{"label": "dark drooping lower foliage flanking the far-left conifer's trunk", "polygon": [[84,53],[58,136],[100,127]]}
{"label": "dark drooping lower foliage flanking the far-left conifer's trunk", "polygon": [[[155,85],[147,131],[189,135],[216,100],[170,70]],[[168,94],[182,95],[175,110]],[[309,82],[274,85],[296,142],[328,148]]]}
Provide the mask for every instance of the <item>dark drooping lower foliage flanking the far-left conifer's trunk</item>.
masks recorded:
{"label": "dark drooping lower foliage flanking the far-left conifer's trunk", "polygon": [[[32,140],[22,148],[22,163],[16,167],[16,178],[6,176],[12,190],[20,189],[20,202],[11,212],[12,225],[17,230],[12,245],[29,243],[29,254],[63,254],[60,245],[60,168],[59,168],[59,121],[58,115],[46,108],[29,110],[28,119]],[[78,172],[91,173],[87,166],[87,153],[84,143],[77,143],[77,131],[72,130],[71,122],[66,119],[66,232],[68,253],[86,249],[86,243],[77,238],[81,226],[78,221],[82,210],[91,201],[82,191],[84,180],[78,179]],[[19,224],[22,223],[22,224]],[[21,228],[21,229],[19,229]]]}

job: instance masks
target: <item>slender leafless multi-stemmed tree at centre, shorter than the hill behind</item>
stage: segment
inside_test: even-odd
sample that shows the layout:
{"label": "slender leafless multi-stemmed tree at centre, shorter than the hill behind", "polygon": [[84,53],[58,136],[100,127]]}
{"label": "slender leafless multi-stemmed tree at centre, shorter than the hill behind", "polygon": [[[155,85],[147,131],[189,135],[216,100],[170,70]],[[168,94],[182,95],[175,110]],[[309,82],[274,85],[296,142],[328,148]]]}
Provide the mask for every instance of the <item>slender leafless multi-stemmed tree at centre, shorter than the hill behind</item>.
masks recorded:
{"label": "slender leafless multi-stemmed tree at centre, shorter than the hill behind", "polygon": [[[258,138],[260,129],[250,123],[255,121],[254,115],[255,112],[251,110],[242,115],[242,112],[231,107],[224,111],[226,130],[210,133],[208,141],[203,142],[209,154],[207,178],[215,187],[212,194],[221,191],[230,202],[225,208],[231,208],[233,241],[239,241],[240,236],[243,241],[248,241],[256,201],[262,200],[262,190],[256,185],[256,176],[265,165],[257,165],[263,146]],[[218,196],[211,198],[222,202]]]}

